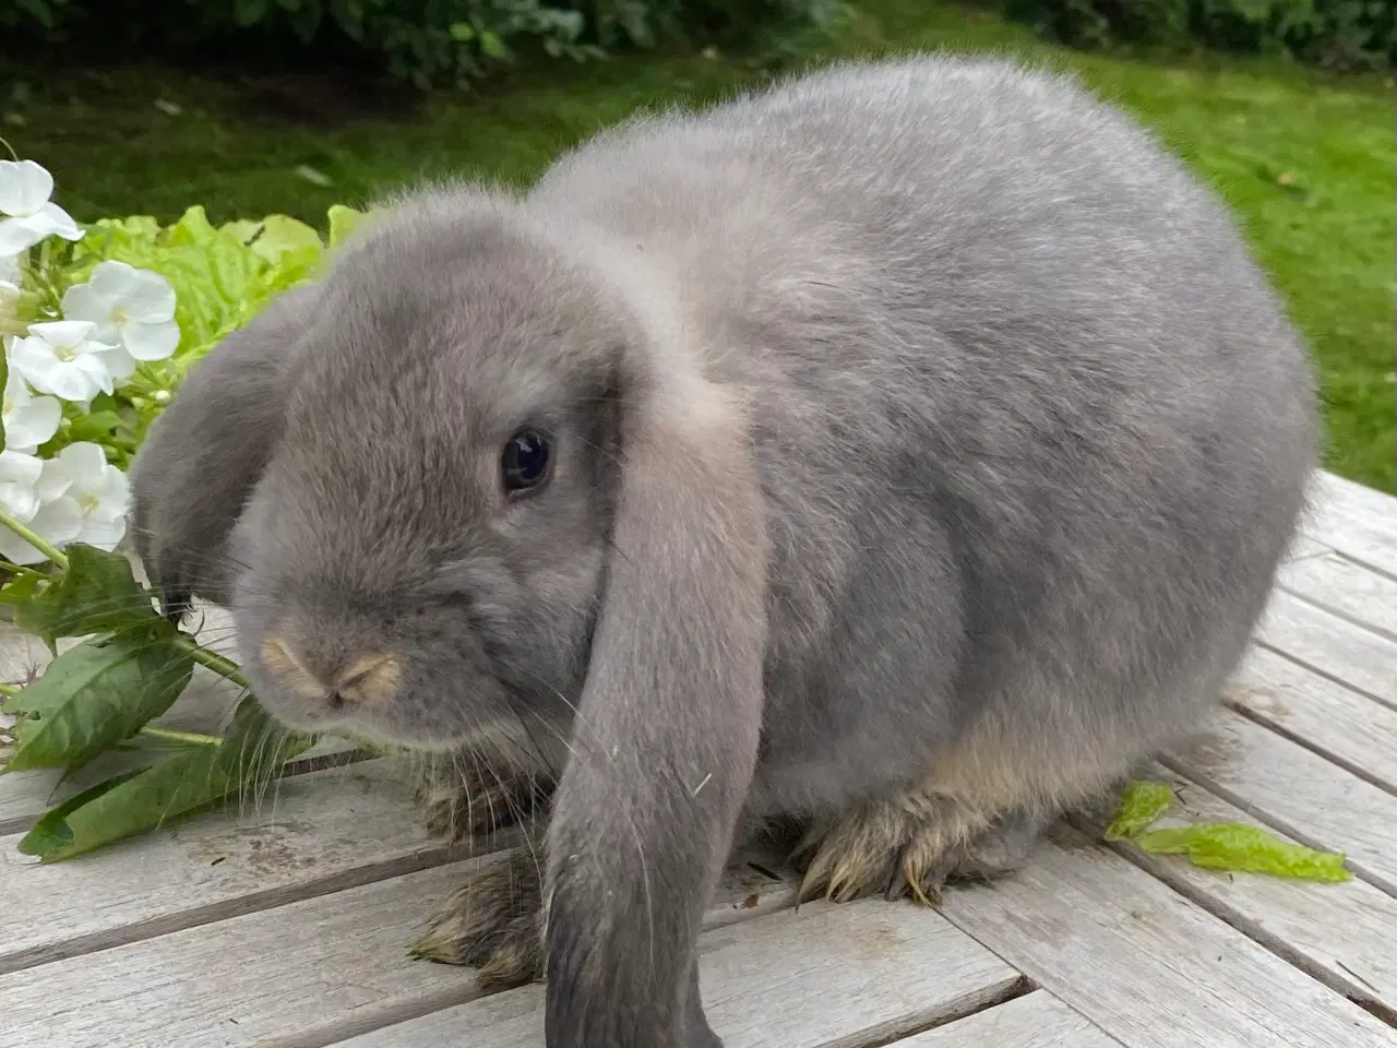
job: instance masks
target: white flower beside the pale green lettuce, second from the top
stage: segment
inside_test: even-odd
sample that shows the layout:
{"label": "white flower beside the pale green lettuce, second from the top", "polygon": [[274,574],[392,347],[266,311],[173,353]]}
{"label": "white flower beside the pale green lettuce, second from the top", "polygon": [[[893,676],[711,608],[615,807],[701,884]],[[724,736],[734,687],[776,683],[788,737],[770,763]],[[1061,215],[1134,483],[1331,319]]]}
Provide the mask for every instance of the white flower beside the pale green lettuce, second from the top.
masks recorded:
{"label": "white flower beside the pale green lettuce, second from the top", "polygon": [[96,324],[98,342],[120,345],[137,361],[163,361],[179,345],[175,289],[126,263],[98,263],[87,284],[63,293],[63,316]]}

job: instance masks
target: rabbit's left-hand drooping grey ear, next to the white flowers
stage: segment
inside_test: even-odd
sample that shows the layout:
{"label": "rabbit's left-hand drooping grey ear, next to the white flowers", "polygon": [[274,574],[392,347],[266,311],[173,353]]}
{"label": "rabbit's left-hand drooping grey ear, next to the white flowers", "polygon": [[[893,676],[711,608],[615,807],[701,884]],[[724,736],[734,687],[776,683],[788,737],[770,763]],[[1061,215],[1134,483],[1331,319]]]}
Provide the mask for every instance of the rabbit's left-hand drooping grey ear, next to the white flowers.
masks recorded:
{"label": "rabbit's left-hand drooping grey ear, next to the white flowers", "polygon": [[228,535],[281,436],[286,354],[314,286],[296,288],[196,365],[131,465],[131,538],[166,615],[228,604]]}

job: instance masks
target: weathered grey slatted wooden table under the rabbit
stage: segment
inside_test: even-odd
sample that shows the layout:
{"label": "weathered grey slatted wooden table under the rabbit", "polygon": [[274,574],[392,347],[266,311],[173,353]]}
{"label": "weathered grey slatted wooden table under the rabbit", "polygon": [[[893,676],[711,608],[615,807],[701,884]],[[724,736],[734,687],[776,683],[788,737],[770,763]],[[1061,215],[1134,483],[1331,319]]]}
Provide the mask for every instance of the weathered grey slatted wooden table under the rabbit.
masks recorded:
{"label": "weathered grey slatted wooden table under the rabbit", "polygon": [[[1397,1047],[1397,499],[1319,492],[1224,707],[1151,771],[1182,819],[1344,851],[1351,882],[1203,872],[1081,823],[940,910],[796,910],[738,868],[703,940],[726,1048]],[[4,679],[42,661],[6,650]],[[200,678],[162,720],[207,729],[226,700]],[[53,866],[15,844],[70,787],[0,777],[0,1045],[541,1048],[538,987],[485,996],[405,950],[497,857],[429,838],[394,759],[327,760]]]}

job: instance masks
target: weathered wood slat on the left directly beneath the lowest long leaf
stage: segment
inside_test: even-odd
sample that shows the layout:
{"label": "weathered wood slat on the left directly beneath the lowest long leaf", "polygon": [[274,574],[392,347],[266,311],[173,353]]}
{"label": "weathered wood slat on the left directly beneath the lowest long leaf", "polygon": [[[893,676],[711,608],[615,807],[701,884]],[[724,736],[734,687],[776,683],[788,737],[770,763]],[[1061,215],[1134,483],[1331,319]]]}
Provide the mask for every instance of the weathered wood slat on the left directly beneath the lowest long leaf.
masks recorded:
{"label": "weathered wood slat on the left directly beneath the lowest long leaf", "polygon": [[[242,817],[239,817],[239,810]],[[503,837],[515,843],[514,837]],[[149,938],[437,865],[467,852],[427,836],[397,760],[281,780],[261,798],[66,862],[0,837],[0,971]],[[479,850],[479,848],[478,848]]]}

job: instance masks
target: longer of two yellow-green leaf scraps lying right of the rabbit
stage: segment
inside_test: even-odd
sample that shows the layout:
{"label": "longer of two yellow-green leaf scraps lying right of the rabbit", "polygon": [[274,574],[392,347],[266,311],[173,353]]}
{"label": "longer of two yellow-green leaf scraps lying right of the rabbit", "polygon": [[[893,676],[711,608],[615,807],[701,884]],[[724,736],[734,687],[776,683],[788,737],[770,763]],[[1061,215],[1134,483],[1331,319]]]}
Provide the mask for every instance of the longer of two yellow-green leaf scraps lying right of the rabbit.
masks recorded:
{"label": "longer of two yellow-green leaf scraps lying right of the rabbit", "polygon": [[1245,823],[1199,823],[1176,830],[1153,830],[1134,840],[1155,855],[1187,855],[1194,866],[1239,873],[1267,873],[1295,880],[1338,883],[1352,878],[1344,855],[1282,841]]}

